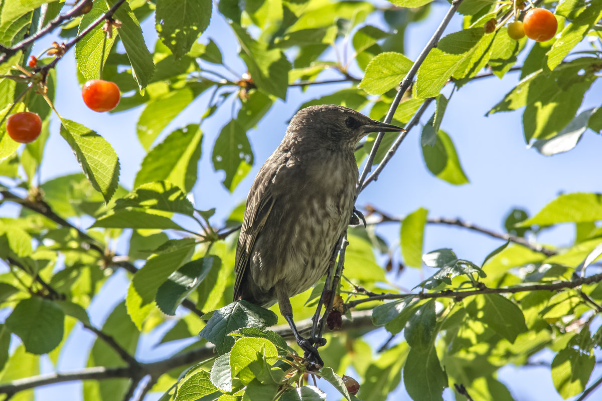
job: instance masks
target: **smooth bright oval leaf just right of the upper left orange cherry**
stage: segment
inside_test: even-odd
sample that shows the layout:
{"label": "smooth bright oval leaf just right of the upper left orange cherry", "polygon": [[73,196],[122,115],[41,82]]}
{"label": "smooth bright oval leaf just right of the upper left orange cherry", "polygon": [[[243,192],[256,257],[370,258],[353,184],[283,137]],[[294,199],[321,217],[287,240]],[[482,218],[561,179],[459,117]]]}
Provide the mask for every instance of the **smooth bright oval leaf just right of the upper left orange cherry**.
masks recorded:
{"label": "smooth bright oval leaf just right of the upper left orange cherry", "polygon": [[136,130],[144,149],[148,150],[152,142],[172,122],[184,108],[193,101],[193,93],[188,87],[169,91],[146,103],[138,118]]}

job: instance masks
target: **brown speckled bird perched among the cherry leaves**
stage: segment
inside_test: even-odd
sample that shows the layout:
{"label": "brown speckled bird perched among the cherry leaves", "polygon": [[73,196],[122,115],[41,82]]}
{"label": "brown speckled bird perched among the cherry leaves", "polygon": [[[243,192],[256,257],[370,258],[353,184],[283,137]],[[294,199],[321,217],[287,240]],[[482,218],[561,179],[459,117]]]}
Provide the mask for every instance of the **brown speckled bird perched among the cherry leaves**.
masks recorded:
{"label": "brown speckled bird perched among the cherry leaves", "polygon": [[319,341],[299,334],[289,298],[326,274],[355,217],[359,140],[371,132],[401,131],[344,106],[300,109],[249,190],[235,254],[234,301],[262,307],[278,302],[306,358],[321,366],[313,346]]}

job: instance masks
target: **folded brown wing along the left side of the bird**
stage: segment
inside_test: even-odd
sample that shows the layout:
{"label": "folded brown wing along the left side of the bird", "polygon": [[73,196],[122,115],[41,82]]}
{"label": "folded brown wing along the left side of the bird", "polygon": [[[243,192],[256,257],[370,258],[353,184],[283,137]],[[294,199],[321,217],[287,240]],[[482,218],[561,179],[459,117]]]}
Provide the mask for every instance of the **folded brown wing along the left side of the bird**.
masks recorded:
{"label": "folded brown wing along the left side of the bird", "polygon": [[243,225],[238,237],[236,259],[234,262],[234,272],[236,274],[236,281],[234,283],[235,300],[241,295],[241,283],[250,263],[251,251],[253,245],[255,245],[255,240],[261,232],[275,203],[276,197],[272,191],[273,187],[270,185],[272,179],[272,171],[268,169],[264,171],[260,170],[247,197]]}

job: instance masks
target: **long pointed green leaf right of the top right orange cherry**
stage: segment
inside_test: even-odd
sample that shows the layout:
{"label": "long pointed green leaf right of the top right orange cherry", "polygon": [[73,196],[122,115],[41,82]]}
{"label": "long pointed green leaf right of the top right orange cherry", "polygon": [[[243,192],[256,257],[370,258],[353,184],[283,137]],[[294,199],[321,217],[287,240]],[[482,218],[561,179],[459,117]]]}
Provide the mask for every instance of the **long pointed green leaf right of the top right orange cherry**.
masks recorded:
{"label": "long pointed green leaf right of the top right orange cherry", "polygon": [[546,53],[547,64],[553,70],[562,63],[571,49],[583,40],[592,26],[602,18],[602,2],[590,1],[585,9],[562,29],[560,36],[554,41],[550,51]]}

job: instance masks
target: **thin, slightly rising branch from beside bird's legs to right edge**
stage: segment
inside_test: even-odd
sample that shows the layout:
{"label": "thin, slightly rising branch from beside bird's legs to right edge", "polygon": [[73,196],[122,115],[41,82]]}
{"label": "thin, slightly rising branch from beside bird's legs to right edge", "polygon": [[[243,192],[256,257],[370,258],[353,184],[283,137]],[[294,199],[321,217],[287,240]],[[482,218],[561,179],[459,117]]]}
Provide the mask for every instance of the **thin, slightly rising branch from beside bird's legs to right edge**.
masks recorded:
{"label": "thin, slightly rising branch from beside bird's legs to right edge", "polygon": [[551,284],[530,284],[524,286],[505,287],[505,288],[489,288],[483,287],[482,289],[476,290],[443,290],[441,292],[430,292],[430,293],[406,293],[406,294],[392,294],[386,293],[377,296],[368,296],[367,298],[357,299],[356,301],[347,302],[347,307],[353,308],[356,305],[364,304],[365,302],[372,301],[384,301],[385,299],[403,299],[403,298],[416,298],[416,299],[429,299],[429,298],[455,298],[464,299],[467,296],[482,295],[482,294],[514,294],[519,292],[529,291],[557,291],[562,289],[571,289],[582,286],[583,284],[599,283],[602,281],[602,273],[594,274],[585,278],[577,278],[571,281],[556,281]]}

